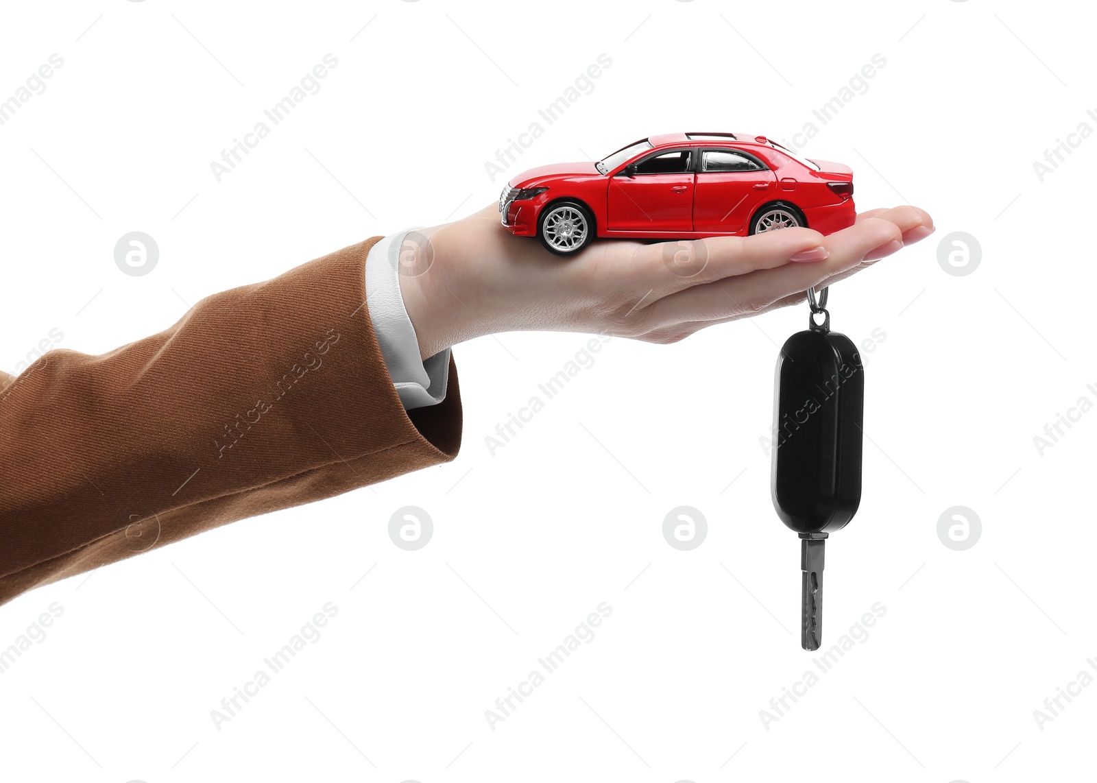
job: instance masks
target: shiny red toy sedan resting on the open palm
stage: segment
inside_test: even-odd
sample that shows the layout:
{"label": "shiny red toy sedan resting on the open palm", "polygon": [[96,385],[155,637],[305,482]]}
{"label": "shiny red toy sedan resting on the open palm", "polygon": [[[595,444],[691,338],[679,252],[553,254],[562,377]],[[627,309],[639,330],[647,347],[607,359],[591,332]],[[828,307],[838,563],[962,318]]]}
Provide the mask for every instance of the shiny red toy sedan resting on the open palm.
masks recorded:
{"label": "shiny red toy sedan resting on the open palm", "polygon": [[804,160],[765,136],[652,136],[593,163],[542,166],[499,196],[511,234],[558,256],[591,239],[699,239],[853,224],[853,171]]}

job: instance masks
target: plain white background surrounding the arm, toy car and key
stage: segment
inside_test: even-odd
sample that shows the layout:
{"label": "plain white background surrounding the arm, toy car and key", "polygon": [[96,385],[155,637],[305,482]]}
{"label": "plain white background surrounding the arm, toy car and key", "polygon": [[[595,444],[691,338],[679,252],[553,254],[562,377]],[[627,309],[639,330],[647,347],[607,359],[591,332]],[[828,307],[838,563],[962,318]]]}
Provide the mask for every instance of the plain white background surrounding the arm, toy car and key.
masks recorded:
{"label": "plain white background surrounding the arm, toy car and key", "polygon": [[[671,347],[611,340],[494,456],[485,436],[586,338],[459,345],[453,463],[0,608],[0,646],[64,608],[0,674],[0,774],[1076,779],[1097,686],[1042,730],[1033,711],[1079,671],[1097,676],[1097,415],[1042,455],[1033,436],[1097,399],[1083,237],[1097,140],[1072,137],[1043,181],[1033,161],[1081,123],[1097,127],[1083,9],[7,3],[0,100],[64,58],[0,126],[10,372],[54,328],[58,345],[100,353],[206,294],[456,219],[522,169],[655,133],[791,141],[814,122],[801,151],[852,166],[860,208],[914,203],[938,230],[830,292],[835,330],[885,338],[864,352],[863,499],[827,547],[825,645],[874,603],[886,613],[768,728],[759,711],[814,668],[799,645],[799,542],[774,515],[759,444],[778,347],[805,307]],[[319,92],[218,183],[211,161],[328,53],[339,64]],[[592,91],[493,181],[485,162],[603,53],[612,65]],[[821,124],[812,110],[875,54],[886,65]],[[114,263],[134,230],[160,249],[146,276]],[[953,231],[982,248],[971,274],[938,263]],[[417,552],[387,533],[408,504],[434,523]],[[690,552],[661,532],[683,504],[709,526]],[[982,520],[962,552],[937,532],[953,506]],[[485,710],[603,601],[612,614],[593,640],[491,730]],[[211,711],[326,602],[338,614],[319,640],[218,730]]]}

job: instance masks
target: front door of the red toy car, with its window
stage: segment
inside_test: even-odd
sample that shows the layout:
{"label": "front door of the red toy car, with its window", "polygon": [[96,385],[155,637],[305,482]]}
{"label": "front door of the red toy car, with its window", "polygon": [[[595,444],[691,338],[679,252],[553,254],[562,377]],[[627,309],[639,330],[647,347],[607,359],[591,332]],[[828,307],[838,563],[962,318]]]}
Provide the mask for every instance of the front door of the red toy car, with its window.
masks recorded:
{"label": "front door of the red toy car, with its window", "polygon": [[693,230],[695,149],[661,150],[610,178],[607,224],[611,231]]}

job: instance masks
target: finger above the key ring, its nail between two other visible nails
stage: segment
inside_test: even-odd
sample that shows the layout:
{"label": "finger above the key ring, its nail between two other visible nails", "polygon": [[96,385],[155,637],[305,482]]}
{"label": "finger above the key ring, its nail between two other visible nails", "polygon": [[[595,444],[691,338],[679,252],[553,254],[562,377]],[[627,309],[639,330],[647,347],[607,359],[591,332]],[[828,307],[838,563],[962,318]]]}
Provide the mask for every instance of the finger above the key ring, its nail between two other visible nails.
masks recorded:
{"label": "finger above the key ring, its nail between two other visible nails", "polygon": [[653,329],[685,321],[756,315],[779,299],[819,286],[828,277],[856,268],[873,250],[894,247],[891,243],[901,243],[902,237],[894,223],[868,218],[826,237],[824,243],[830,254],[825,261],[787,263],[695,285],[652,303],[637,315],[649,319]]}

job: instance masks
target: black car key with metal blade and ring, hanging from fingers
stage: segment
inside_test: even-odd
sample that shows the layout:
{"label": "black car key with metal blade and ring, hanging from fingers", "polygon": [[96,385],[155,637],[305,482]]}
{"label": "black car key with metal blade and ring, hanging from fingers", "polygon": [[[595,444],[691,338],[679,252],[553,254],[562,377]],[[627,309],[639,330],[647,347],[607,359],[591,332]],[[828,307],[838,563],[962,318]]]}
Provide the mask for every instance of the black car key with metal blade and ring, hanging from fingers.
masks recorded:
{"label": "black car key with metal blade and ring, hanging from fingers", "polygon": [[778,517],[802,540],[800,646],[815,650],[823,638],[826,538],[846,526],[861,500],[864,368],[853,342],[830,331],[827,290],[816,303],[810,288],[807,298],[808,328],[790,337],[777,360],[770,490]]}

